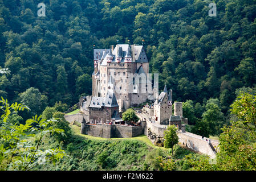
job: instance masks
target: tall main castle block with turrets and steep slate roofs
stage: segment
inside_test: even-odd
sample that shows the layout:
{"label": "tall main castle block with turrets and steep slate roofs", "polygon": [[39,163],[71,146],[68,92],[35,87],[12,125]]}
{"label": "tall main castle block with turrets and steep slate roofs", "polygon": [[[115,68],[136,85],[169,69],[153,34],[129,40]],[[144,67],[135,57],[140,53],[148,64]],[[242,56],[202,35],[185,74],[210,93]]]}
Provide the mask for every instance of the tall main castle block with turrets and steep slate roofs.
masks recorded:
{"label": "tall main castle block with turrets and steep slate roofs", "polygon": [[117,44],[109,49],[94,49],[92,96],[105,97],[113,89],[120,110],[139,105],[154,97],[148,72],[143,46]]}

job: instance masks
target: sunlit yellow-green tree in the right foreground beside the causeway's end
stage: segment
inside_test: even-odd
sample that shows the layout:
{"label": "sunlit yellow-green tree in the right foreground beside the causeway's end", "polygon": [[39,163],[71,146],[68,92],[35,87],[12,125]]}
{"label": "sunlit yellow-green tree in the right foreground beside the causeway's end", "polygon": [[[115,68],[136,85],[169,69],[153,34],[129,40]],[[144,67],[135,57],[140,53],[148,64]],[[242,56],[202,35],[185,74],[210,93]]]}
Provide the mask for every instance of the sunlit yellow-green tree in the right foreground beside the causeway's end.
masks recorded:
{"label": "sunlit yellow-green tree in the right foreground beside the causeway's end", "polygon": [[[249,90],[250,93],[253,90]],[[224,126],[220,135],[217,158],[211,162],[208,157],[192,159],[189,164],[195,170],[245,171],[256,170],[255,121],[256,96],[247,92],[238,94],[231,105],[231,113],[238,119],[231,126]]]}

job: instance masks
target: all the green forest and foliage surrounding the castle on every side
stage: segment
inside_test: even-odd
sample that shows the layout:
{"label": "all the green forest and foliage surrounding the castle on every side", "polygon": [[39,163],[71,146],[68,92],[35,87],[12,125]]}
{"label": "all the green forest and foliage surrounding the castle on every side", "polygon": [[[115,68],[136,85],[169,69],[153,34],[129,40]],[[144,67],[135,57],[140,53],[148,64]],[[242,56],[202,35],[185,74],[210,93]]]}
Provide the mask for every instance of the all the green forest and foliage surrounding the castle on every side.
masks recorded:
{"label": "all the green forest and foliage surrounding the castle on every side", "polygon": [[[255,0],[0,0],[0,169],[255,170],[255,18]],[[117,40],[144,45],[160,89],[184,102],[187,131],[220,137],[216,163],[73,133],[63,112],[91,94],[94,47]]]}

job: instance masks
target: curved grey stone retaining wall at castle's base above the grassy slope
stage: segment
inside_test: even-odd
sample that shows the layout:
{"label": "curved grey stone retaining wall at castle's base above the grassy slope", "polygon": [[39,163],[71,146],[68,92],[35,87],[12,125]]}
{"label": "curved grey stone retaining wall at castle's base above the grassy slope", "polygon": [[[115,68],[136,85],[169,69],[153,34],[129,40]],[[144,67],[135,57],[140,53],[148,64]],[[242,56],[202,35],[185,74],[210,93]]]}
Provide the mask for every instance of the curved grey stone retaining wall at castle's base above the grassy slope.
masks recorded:
{"label": "curved grey stone retaining wall at castle's base above the grassy slope", "polygon": [[82,134],[101,138],[131,138],[144,133],[143,126],[124,126],[124,125],[97,125],[82,124]]}

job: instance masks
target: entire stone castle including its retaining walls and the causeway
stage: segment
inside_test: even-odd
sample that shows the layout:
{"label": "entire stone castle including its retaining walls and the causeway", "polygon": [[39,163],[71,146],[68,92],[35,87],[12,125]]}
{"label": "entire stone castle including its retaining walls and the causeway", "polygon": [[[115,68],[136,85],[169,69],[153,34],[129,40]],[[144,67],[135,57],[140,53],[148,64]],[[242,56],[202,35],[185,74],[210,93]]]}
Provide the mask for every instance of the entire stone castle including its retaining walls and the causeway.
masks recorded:
{"label": "entire stone castle including its retaining walls and the causeway", "polygon": [[[166,85],[159,94],[158,80],[152,82],[148,72],[149,63],[143,46],[117,44],[115,48],[94,49],[92,96],[81,97],[80,112],[66,115],[66,120],[80,122],[82,134],[102,138],[144,134],[157,146],[162,146],[167,126],[176,125],[180,143],[214,158],[218,141],[212,140],[211,144],[201,136],[186,132],[188,119],[182,116],[182,102],[173,103],[172,89],[168,92]],[[140,104],[144,107],[136,111],[139,124],[124,123],[121,119],[123,111]]]}

